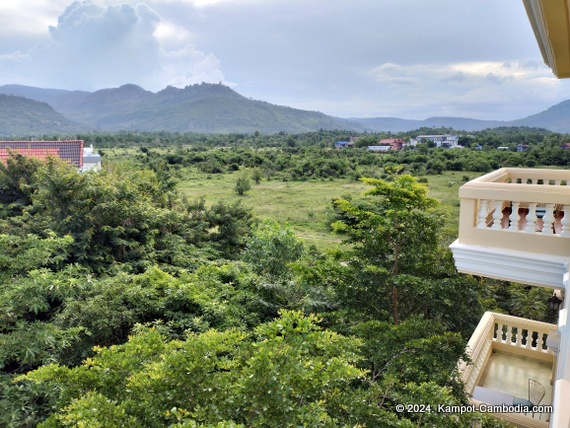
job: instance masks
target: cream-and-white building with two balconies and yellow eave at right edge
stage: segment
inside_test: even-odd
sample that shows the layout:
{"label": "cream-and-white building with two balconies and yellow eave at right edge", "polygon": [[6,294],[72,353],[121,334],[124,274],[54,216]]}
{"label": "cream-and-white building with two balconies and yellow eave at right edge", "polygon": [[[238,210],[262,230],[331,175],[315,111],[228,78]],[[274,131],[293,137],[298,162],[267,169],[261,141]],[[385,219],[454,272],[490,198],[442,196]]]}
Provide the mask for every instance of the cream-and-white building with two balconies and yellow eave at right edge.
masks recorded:
{"label": "cream-and-white building with two balconies and yellow eave at right edge", "polygon": [[[570,1],[523,3],[545,63],[570,77]],[[556,324],[487,312],[468,343],[472,364],[460,365],[466,392],[477,405],[552,406],[498,407],[516,427],[570,428],[570,171],[502,168],[463,185],[459,197],[457,269],[551,289],[550,303],[562,303]]]}

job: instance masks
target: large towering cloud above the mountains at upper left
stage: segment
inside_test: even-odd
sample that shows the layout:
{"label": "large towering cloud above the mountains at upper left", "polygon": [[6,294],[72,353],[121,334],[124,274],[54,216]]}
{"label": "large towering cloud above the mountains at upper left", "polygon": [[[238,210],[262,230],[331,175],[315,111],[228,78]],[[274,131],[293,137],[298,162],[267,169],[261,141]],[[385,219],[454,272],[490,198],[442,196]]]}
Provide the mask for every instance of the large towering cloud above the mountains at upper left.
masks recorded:
{"label": "large towering cloud above the mountains at upper left", "polygon": [[167,85],[225,82],[220,61],[191,45],[188,31],[178,30],[143,3],[76,1],[49,26],[48,43],[0,56],[0,66],[10,64],[14,71],[2,78],[83,90],[134,83],[156,91]]}

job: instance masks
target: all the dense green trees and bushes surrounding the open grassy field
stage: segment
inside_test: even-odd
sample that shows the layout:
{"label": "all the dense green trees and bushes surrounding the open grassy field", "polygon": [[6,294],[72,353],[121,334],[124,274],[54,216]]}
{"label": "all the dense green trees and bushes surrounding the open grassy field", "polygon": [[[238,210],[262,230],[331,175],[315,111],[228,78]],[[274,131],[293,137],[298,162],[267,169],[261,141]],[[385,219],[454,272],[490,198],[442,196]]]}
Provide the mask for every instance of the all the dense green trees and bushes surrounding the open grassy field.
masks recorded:
{"label": "all the dense green trees and bushes surrounding the open grassy field", "polygon": [[[97,173],[0,165],[0,426],[501,426],[396,410],[466,402],[457,361],[484,310],[547,314],[529,304],[542,290],[455,271],[440,204],[401,162],[495,153],[282,137],[287,147],[141,147]],[[177,192],[183,168],[215,159],[222,171],[271,159],[285,178],[303,162],[320,170],[323,151],[325,168],[345,171],[327,177],[376,176],[362,197],[331,202],[331,228],[348,239],[329,253],[245,204]]]}

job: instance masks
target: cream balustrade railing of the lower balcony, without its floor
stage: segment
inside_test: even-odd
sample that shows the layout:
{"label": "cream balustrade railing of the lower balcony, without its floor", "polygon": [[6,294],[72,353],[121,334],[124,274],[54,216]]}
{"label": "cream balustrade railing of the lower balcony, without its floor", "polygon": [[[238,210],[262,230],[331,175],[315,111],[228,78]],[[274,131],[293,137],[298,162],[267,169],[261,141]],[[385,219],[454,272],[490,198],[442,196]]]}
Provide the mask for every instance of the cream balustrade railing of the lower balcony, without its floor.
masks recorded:
{"label": "cream balustrade railing of the lower balcony, without its floor", "polygon": [[[556,335],[556,325],[486,312],[467,345],[471,364],[461,362],[459,365],[465,392],[473,395],[476,387],[482,386],[485,368],[488,366],[494,351],[502,351],[537,361],[551,362],[555,367],[555,353],[549,349],[547,344],[549,335]],[[473,401],[474,403],[486,402],[481,397],[474,397]],[[490,401],[487,403],[497,404]],[[512,401],[504,404],[510,405]],[[498,416],[517,424],[517,426],[548,427],[548,422],[536,417],[532,418],[530,415],[501,413]]]}

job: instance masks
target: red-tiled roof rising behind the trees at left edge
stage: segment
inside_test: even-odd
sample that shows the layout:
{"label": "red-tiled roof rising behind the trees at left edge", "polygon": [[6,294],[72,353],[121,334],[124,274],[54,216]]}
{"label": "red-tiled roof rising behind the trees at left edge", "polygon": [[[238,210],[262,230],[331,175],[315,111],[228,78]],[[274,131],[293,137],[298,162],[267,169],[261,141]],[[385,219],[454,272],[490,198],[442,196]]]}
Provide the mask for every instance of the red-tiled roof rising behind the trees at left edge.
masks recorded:
{"label": "red-tiled roof rising behind the trees at left edge", "polygon": [[83,140],[66,141],[0,141],[0,162],[6,164],[10,153],[45,160],[55,156],[77,169],[83,167]]}

